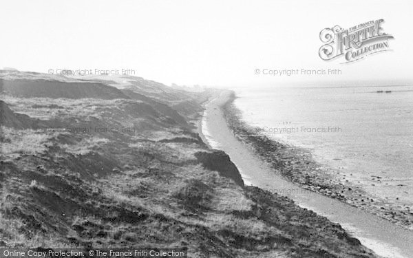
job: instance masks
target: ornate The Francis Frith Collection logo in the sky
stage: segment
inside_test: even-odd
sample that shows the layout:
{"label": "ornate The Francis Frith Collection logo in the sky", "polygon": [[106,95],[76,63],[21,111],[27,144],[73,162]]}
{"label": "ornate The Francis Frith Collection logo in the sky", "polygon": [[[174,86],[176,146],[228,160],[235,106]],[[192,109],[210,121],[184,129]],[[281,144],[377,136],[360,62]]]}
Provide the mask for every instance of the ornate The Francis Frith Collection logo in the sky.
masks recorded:
{"label": "ornate The Francis Frith Collection logo in the sky", "polygon": [[391,34],[384,32],[383,19],[368,21],[344,30],[339,25],[325,28],[320,32],[324,43],[319,49],[319,56],[324,61],[330,61],[342,56],[343,63],[350,63],[370,54],[390,50]]}

